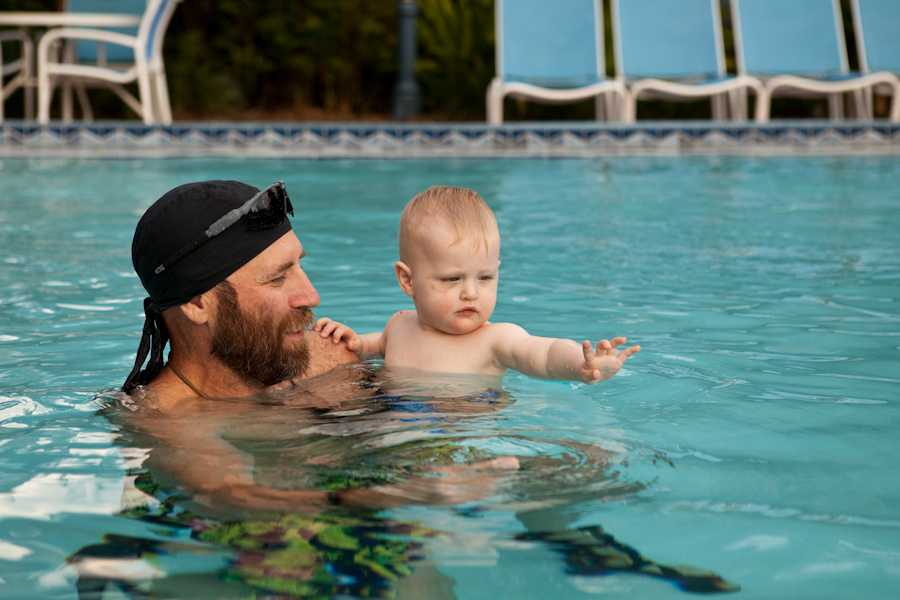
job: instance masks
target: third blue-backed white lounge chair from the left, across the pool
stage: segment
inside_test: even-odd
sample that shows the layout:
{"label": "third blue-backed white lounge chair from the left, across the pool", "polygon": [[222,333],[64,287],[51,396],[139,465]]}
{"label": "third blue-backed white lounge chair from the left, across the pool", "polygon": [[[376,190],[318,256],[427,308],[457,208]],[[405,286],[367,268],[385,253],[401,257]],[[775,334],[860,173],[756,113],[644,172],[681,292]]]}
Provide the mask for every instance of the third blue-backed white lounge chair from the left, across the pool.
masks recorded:
{"label": "third blue-backed white lounge chair from the left, across the pool", "polygon": [[[731,0],[731,14],[738,72],[763,79],[770,100],[824,97],[829,117],[838,120],[844,94],[852,93],[854,116],[870,118],[864,94],[884,85],[894,90],[891,120],[900,121],[894,74],[850,72],[839,0]],[[768,118],[770,103],[764,108]]]}

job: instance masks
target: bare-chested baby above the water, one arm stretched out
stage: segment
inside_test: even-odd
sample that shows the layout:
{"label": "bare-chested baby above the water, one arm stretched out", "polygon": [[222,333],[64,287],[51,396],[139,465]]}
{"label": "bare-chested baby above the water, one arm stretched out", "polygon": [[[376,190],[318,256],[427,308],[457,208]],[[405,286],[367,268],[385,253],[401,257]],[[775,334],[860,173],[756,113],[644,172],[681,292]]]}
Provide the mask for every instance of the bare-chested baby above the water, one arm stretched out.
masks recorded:
{"label": "bare-chested baby above the water, one arm stretched out", "polygon": [[594,384],[615,375],[632,346],[616,353],[624,337],[585,340],[529,335],[512,323],[488,319],[497,302],[500,232],[494,213],[472,190],[434,186],[413,198],[400,215],[397,281],[416,310],[402,310],[384,331],[357,335],[328,318],[314,329],[335,343],[344,339],[360,357],[427,371],[531,377]]}

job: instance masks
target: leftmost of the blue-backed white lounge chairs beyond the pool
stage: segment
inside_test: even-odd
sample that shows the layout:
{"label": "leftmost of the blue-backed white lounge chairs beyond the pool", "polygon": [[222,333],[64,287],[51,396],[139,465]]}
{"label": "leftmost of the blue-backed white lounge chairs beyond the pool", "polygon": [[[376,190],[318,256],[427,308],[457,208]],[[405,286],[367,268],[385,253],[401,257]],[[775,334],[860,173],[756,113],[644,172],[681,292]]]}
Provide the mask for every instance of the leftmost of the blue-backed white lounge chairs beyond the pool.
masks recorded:
{"label": "leftmost of the blue-backed white lounge chairs beyond the pool", "polygon": [[495,10],[488,123],[503,123],[506,96],[542,104],[596,98],[598,120],[616,117],[627,92],[606,78],[600,0],[496,0]]}

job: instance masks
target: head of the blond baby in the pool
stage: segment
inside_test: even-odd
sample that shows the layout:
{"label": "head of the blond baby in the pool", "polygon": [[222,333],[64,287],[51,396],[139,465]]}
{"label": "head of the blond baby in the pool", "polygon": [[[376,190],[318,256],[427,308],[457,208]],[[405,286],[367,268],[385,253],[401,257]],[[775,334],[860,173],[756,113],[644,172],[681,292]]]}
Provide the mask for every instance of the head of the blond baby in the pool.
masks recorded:
{"label": "head of the blond baby in the pool", "polygon": [[500,232],[472,190],[433,186],[400,215],[400,287],[426,328],[462,334],[481,327],[497,301]]}

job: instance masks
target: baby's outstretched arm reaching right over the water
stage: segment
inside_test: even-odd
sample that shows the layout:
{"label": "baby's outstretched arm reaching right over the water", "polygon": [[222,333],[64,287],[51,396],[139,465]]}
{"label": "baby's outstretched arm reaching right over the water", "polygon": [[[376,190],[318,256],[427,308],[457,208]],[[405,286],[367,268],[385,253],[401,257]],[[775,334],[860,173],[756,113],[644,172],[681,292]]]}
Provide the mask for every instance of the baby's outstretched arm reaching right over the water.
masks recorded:
{"label": "baby's outstretched arm reaching right over the water", "polygon": [[556,381],[582,381],[595,384],[619,372],[628,357],[640,352],[640,346],[616,349],[627,340],[600,340],[594,352],[591,343],[542,338],[529,335],[511,323],[497,323],[493,343],[494,360],[501,367],[514,369],[531,377]]}

